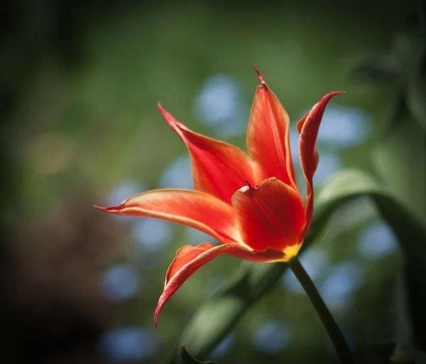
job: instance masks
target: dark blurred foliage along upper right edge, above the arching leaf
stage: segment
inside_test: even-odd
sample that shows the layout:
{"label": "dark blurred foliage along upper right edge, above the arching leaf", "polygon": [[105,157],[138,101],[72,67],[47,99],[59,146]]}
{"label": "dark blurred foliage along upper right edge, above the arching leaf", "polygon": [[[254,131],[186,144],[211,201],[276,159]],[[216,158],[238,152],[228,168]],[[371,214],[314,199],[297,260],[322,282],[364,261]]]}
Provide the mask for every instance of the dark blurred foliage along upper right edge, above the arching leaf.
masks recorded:
{"label": "dark blurred foliage along upper right edge, above the arching leaf", "polygon": [[392,80],[398,84],[393,114],[382,126],[373,158],[391,190],[426,221],[425,10],[420,7],[413,18],[415,25],[395,35],[388,53],[376,55],[361,65],[352,77],[359,82]]}

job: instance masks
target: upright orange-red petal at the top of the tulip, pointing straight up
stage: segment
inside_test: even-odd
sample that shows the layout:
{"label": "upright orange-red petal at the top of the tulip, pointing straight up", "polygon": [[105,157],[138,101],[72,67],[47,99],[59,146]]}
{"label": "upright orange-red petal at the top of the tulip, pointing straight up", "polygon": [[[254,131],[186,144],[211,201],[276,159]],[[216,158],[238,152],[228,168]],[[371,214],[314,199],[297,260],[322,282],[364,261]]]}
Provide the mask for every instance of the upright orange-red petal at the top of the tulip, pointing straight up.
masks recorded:
{"label": "upright orange-red petal at the top of the tulip, pointing straight up", "polygon": [[[256,66],[255,70],[258,72]],[[258,77],[261,84],[254,95],[247,130],[247,149],[256,162],[255,183],[276,177],[296,189],[288,114],[259,72]]]}

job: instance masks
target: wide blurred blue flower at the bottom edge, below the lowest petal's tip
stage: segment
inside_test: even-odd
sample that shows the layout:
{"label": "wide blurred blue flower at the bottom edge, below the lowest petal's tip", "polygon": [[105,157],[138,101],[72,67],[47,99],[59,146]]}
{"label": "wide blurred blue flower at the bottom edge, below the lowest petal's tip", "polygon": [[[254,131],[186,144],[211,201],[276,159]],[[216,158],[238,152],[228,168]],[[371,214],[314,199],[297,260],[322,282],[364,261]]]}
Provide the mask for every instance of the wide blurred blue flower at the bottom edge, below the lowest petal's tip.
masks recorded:
{"label": "wide blurred blue flower at the bottom edge, below the lowest petal's tip", "polygon": [[139,326],[110,329],[99,339],[99,351],[113,360],[147,360],[157,347],[154,333]]}

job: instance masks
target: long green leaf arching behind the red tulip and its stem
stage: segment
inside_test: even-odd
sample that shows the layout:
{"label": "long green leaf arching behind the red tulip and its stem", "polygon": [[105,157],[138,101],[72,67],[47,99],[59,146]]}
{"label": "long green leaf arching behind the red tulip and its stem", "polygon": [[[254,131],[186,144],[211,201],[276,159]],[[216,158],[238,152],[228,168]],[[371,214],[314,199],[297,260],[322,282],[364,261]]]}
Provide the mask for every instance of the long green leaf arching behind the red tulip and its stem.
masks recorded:
{"label": "long green leaf arching behind the red tulip and its stem", "polygon": [[[377,182],[362,172],[346,170],[335,175],[316,198],[315,214],[302,249],[307,248],[322,231],[332,213],[359,197],[371,197],[378,211],[393,227],[405,253],[416,257],[416,265],[426,263],[426,230],[405,206],[384,193]],[[284,263],[259,264],[244,262],[231,277],[205,302],[182,333],[181,342],[197,358],[205,358],[237,324],[241,316],[261,299],[287,269]],[[175,357],[171,363],[180,363]]]}

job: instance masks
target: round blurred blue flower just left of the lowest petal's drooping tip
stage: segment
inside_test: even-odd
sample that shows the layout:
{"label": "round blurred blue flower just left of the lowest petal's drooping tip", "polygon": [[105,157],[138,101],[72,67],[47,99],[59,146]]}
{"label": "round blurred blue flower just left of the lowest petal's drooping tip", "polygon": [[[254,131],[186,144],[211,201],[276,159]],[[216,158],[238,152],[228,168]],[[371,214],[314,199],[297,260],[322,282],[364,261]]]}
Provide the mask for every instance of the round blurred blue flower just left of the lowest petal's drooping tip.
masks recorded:
{"label": "round blurred blue flower just left of the lowest petal's drooping tip", "polygon": [[140,274],[131,265],[114,265],[102,274],[101,287],[111,301],[124,301],[133,297],[141,287]]}

